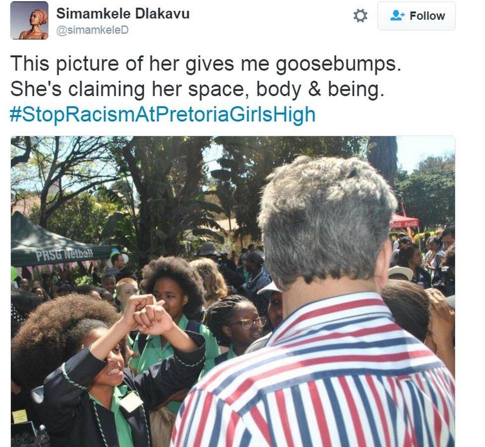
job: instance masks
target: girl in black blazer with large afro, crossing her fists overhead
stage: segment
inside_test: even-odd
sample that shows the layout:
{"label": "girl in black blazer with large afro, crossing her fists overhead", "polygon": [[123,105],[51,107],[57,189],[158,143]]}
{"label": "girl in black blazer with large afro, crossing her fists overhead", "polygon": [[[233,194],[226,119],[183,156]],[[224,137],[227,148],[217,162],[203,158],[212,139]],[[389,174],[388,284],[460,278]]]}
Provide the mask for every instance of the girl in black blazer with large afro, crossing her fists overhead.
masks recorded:
{"label": "girl in black blazer with large afro, crossing her fists overhead", "polygon": [[[120,318],[109,303],[73,294],[30,314],[13,339],[12,362],[21,386],[41,385],[31,397],[52,447],[152,446],[148,411],[193,382],[205,351],[204,338],[178,328],[163,304],[132,296]],[[123,358],[136,327],[174,350],[140,375]]]}

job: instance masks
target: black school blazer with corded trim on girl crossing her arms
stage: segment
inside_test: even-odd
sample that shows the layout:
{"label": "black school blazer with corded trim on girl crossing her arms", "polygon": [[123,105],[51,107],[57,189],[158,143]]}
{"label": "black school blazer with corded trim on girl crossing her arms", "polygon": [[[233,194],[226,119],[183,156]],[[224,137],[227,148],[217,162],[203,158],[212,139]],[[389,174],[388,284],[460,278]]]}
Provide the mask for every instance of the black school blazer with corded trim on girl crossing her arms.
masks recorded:
{"label": "black school blazer with corded trim on girl crossing her arms", "polygon": [[[125,369],[123,384],[136,392],[144,404],[128,413],[121,411],[131,427],[135,447],[152,445],[148,412],[173,393],[190,387],[204,365],[204,337],[187,332],[199,348],[191,353],[174,350],[174,355],[135,375]],[[56,371],[44,385],[32,390],[38,419],[46,426],[52,447],[124,447],[118,444],[114,415],[89,399],[87,387],[106,366],[84,348]]]}

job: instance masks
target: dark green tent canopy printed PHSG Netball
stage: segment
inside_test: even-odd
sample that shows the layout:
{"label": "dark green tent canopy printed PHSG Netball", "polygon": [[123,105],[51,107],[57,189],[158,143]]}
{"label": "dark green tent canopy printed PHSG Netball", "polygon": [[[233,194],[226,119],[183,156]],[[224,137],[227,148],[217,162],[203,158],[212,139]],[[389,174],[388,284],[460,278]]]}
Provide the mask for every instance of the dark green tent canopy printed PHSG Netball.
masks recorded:
{"label": "dark green tent canopy printed PHSG Netball", "polygon": [[51,233],[16,211],[11,217],[11,265],[26,267],[108,259],[111,247],[76,242]]}

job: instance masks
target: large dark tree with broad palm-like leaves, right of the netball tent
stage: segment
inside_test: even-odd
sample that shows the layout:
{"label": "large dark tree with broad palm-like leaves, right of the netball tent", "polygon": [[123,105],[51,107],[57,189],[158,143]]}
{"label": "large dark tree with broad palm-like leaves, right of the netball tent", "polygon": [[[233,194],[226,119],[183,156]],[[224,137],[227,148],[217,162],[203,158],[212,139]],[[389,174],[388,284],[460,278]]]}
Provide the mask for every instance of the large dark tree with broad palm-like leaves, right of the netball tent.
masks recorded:
{"label": "large dark tree with broad palm-like leaves, right of the netball tent", "polygon": [[211,140],[134,137],[113,147],[128,194],[117,192],[125,212],[110,222],[123,228],[123,240],[131,244],[141,266],[155,256],[180,254],[187,233],[220,238],[213,229],[222,228],[213,213],[221,209],[205,201],[202,190],[203,150]]}

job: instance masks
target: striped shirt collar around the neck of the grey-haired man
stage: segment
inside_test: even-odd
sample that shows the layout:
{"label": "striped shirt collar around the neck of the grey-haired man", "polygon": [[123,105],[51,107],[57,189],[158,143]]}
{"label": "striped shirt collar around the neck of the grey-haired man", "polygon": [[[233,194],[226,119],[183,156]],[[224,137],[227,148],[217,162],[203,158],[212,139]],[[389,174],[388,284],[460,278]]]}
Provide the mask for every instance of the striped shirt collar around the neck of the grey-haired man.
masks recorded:
{"label": "striped shirt collar around the neck of the grey-haired man", "polygon": [[359,292],[312,301],[288,315],[266,343],[271,346],[308,328],[334,323],[358,316],[375,315],[392,319],[391,311],[375,292]]}

